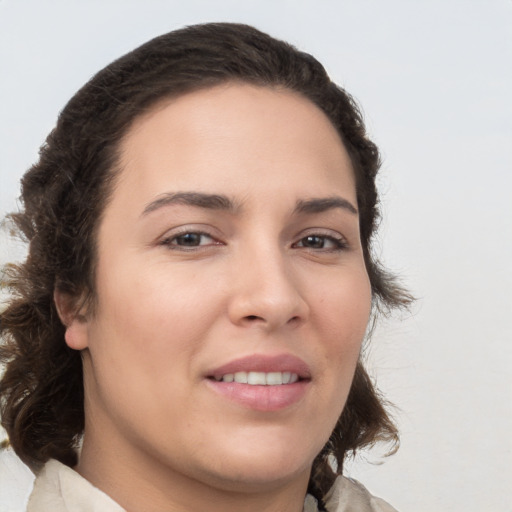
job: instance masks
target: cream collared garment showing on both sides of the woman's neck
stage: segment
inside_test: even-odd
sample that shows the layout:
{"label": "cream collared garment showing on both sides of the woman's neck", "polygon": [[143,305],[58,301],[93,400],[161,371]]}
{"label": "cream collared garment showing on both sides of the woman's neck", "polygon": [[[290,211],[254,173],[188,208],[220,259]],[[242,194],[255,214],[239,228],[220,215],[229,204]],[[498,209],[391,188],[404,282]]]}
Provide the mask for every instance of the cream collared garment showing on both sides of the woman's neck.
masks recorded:
{"label": "cream collared garment showing on both sides of the woman's neck", "polygon": [[[329,512],[396,512],[372,496],[360,483],[338,477],[326,496]],[[308,495],[303,512],[317,512],[316,500]],[[68,466],[50,460],[38,474],[27,512],[126,512],[112,498],[94,487]]]}

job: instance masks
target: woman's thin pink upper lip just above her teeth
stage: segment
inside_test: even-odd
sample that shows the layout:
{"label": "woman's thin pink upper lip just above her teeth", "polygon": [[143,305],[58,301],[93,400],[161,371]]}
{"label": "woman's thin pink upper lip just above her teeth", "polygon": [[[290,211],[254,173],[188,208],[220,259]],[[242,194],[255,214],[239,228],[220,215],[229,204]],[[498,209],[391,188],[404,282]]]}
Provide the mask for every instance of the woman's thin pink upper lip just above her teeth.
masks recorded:
{"label": "woman's thin pink upper lip just above her teeth", "polygon": [[233,359],[208,372],[208,377],[222,377],[236,372],[290,372],[296,373],[301,379],[310,379],[309,366],[299,357],[292,354],[253,354]]}

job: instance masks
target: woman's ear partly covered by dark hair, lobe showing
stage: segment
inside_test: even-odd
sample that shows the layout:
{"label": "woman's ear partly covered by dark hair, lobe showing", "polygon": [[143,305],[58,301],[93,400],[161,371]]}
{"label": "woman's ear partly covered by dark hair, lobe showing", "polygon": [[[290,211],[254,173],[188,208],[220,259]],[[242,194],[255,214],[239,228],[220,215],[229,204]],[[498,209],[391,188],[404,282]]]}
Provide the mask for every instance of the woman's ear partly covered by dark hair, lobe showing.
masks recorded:
{"label": "woman's ear partly covered by dark hair, lobe showing", "polygon": [[89,346],[87,317],[78,304],[77,298],[60,290],[54,290],[53,301],[60,321],[66,328],[64,339],[66,345],[74,350],[83,350]]}

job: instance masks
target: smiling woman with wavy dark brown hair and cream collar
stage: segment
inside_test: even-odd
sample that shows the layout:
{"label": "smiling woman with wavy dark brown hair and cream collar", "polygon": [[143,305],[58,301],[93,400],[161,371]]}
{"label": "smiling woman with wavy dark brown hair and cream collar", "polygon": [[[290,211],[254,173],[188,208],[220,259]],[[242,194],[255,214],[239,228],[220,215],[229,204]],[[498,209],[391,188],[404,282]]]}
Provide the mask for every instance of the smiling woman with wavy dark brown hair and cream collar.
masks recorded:
{"label": "smiling woman with wavy dark brown hair and cream collar", "polygon": [[28,510],[393,510],[341,476],[397,443],[360,360],[408,297],[375,261],[379,155],[310,55],[156,38],[69,102],[12,216],[2,424]]}

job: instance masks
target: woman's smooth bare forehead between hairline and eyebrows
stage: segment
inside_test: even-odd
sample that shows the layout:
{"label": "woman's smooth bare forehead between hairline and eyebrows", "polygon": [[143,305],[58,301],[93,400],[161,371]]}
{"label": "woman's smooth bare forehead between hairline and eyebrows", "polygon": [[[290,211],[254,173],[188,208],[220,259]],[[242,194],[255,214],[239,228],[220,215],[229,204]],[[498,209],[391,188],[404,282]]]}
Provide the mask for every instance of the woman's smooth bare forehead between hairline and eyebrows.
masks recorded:
{"label": "woman's smooth bare forehead between hairline and eyebrows", "polygon": [[324,195],[335,184],[354,188],[332,123],[287,89],[228,83],[162,101],[135,120],[120,150],[121,182],[148,196],[192,184],[236,195],[291,187],[292,178],[307,182],[311,195],[315,187]]}

